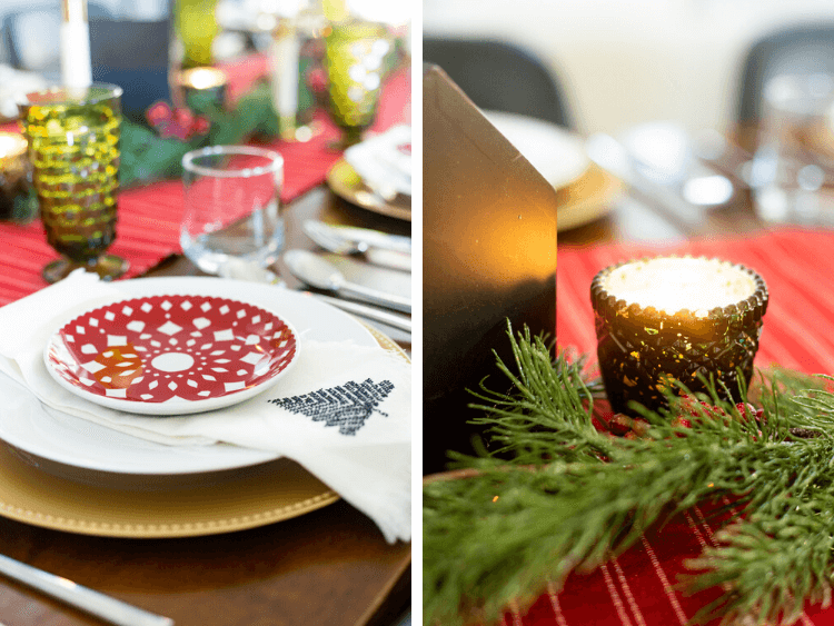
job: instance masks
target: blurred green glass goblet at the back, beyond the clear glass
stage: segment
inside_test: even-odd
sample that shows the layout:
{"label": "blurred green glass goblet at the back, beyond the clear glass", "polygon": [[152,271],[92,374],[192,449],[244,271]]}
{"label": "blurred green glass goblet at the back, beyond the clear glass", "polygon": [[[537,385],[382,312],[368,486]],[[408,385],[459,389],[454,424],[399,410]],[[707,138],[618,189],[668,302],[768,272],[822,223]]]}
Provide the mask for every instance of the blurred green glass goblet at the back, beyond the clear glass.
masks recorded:
{"label": "blurred green glass goblet at the back, beyond the clear glass", "polygon": [[341,148],[361,140],[379,108],[390,33],[384,24],[335,23],[325,38],[328,112],[344,133]]}

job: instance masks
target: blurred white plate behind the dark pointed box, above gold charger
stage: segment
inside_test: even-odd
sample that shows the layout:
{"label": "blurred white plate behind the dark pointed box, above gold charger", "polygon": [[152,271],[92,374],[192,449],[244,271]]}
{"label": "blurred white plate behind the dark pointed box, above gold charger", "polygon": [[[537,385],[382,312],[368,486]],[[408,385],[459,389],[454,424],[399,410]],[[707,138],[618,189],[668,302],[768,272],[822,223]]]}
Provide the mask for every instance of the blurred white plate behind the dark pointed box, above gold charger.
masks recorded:
{"label": "blurred white plate behind the dark pointed box, above gold charger", "polygon": [[579,178],[590,165],[583,139],[560,126],[516,113],[484,115],[556,189]]}

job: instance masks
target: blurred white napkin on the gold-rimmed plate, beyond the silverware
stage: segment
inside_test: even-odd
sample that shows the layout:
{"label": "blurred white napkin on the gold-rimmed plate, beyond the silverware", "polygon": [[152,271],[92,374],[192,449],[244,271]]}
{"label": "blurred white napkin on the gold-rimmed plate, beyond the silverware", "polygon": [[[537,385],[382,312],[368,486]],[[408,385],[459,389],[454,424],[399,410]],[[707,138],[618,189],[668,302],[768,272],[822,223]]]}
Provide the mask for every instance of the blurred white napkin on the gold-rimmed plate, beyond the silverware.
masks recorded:
{"label": "blurred white napkin on the gold-rimmed plate, beyond the silverware", "polygon": [[399,125],[345,150],[365,185],[386,200],[411,195],[411,127]]}

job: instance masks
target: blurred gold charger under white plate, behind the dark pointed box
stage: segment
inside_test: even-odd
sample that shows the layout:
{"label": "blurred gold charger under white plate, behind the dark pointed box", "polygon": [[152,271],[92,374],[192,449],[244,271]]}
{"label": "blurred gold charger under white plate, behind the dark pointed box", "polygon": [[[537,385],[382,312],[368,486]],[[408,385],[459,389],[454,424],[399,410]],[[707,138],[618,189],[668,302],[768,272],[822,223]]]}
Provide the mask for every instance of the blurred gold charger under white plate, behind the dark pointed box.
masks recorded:
{"label": "blurred gold charger under white plate, behind the dark pointed box", "polygon": [[612,210],[613,200],[622,190],[619,179],[592,163],[582,177],[556,190],[559,200],[557,230],[568,230],[599,219]]}

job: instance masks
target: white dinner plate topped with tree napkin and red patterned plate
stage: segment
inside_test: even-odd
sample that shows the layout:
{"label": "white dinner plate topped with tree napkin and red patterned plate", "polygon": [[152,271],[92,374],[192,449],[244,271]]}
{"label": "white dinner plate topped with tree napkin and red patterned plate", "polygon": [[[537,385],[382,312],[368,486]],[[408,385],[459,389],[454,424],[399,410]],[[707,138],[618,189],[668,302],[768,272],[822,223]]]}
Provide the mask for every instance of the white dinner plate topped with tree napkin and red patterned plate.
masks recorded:
{"label": "white dinner plate topped with tree napkin and red patterned plate", "polygon": [[[24,454],[150,484],[287,457],[388,541],[410,538],[410,365],[344,314],[266,285],[106,285],[77,271],[3,307],[0,319],[14,329],[0,338],[0,388],[18,398],[0,438]],[[50,441],[56,423],[72,423],[86,446]],[[97,449],[97,426],[145,444],[119,450],[113,441],[125,437],[106,437],[109,449]]]}

